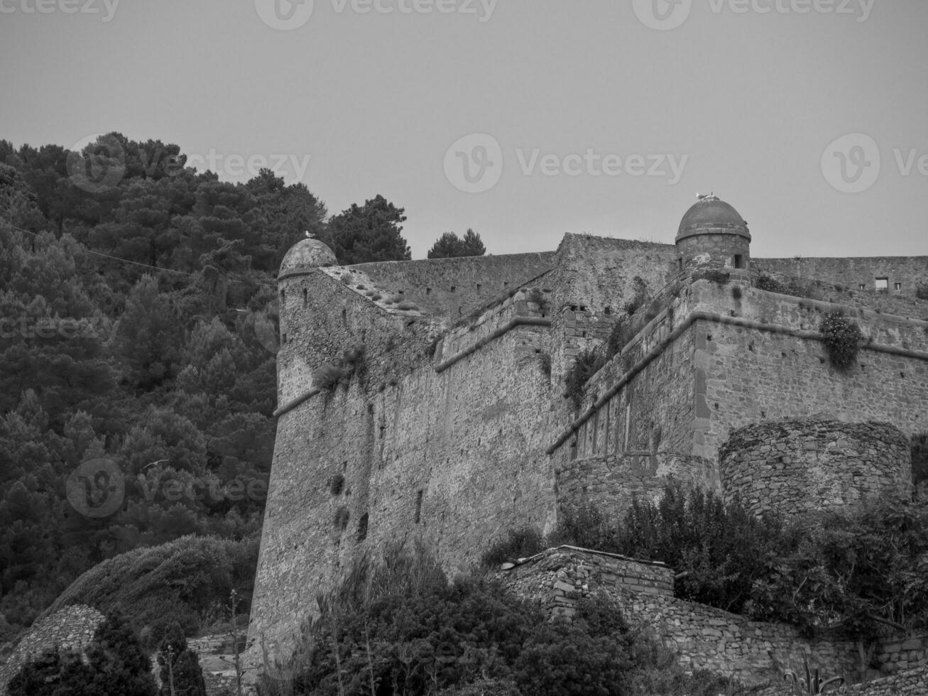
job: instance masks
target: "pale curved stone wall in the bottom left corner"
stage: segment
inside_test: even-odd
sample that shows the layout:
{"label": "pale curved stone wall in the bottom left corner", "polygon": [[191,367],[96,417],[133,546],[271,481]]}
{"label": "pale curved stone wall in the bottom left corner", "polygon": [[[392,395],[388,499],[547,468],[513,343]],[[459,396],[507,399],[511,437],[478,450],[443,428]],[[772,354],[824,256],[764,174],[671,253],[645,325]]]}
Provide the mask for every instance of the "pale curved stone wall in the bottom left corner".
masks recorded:
{"label": "pale curved stone wall in the bottom left corner", "polygon": [[6,694],[6,685],[22,666],[49,650],[84,651],[94,638],[103,614],[93,607],[75,604],[46,616],[32,625],[6,663],[0,664],[0,694]]}

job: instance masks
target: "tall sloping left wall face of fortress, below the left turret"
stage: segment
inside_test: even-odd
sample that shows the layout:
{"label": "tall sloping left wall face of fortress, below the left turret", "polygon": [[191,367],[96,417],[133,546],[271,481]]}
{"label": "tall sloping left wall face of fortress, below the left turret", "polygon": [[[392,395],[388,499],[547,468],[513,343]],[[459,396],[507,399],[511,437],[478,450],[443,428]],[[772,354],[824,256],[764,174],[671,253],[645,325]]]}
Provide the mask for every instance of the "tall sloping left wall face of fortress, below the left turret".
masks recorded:
{"label": "tall sloping left wall face of fortress, below the left turret", "polygon": [[[324,278],[318,286],[315,302],[342,306],[345,285]],[[534,358],[550,329],[520,325],[496,337],[490,329],[512,316],[543,318],[522,298],[452,329],[448,350],[439,342],[431,359],[422,352],[428,325],[400,319],[391,333],[396,320],[388,317],[386,340],[375,333],[371,342],[380,329],[367,328],[367,380],[352,378],[280,415],[251,609],[252,661],[262,641],[272,656],[286,655],[316,611],[316,593],[334,586],[362,551],[421,539],[454,573],[511,528],[553,526],[554,475],[543,450],[553,387]],[[282,351],[309,354],[307,362],[332,354],[364,330],[355,318],[380,316],[367,312],[349,303],[342,326],[338,312],[319,307]],[[466,354],[475,336],[492,340]],[[454,354],[458,362],[436,371]],[[404,362],[405,372],[394,367]],[[280,369],[280,380],[299,382],[284,393],[309,386],[304,372]]]}

